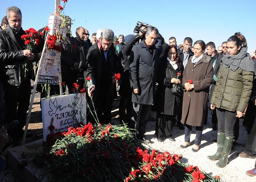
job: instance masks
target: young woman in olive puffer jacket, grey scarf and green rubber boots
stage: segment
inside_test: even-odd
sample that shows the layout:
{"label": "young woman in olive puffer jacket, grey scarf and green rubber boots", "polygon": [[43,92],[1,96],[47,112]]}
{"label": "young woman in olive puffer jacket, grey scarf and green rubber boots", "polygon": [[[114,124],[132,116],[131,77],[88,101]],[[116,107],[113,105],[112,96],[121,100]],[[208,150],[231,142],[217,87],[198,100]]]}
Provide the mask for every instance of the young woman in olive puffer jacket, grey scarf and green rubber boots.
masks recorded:
{"label": "young woman in olive puffer jacket, grey scarf and green rubber boots", "polygon": [[234,124],[241,118],[252,92],[254,63],[247,52],[246,39],[240,32],[227,40],[227,52],[222,58],[216,87],[211,98],[211,109],[217,109],[218,149],[208,156],[216,165],[225,167],[234,141]]}

